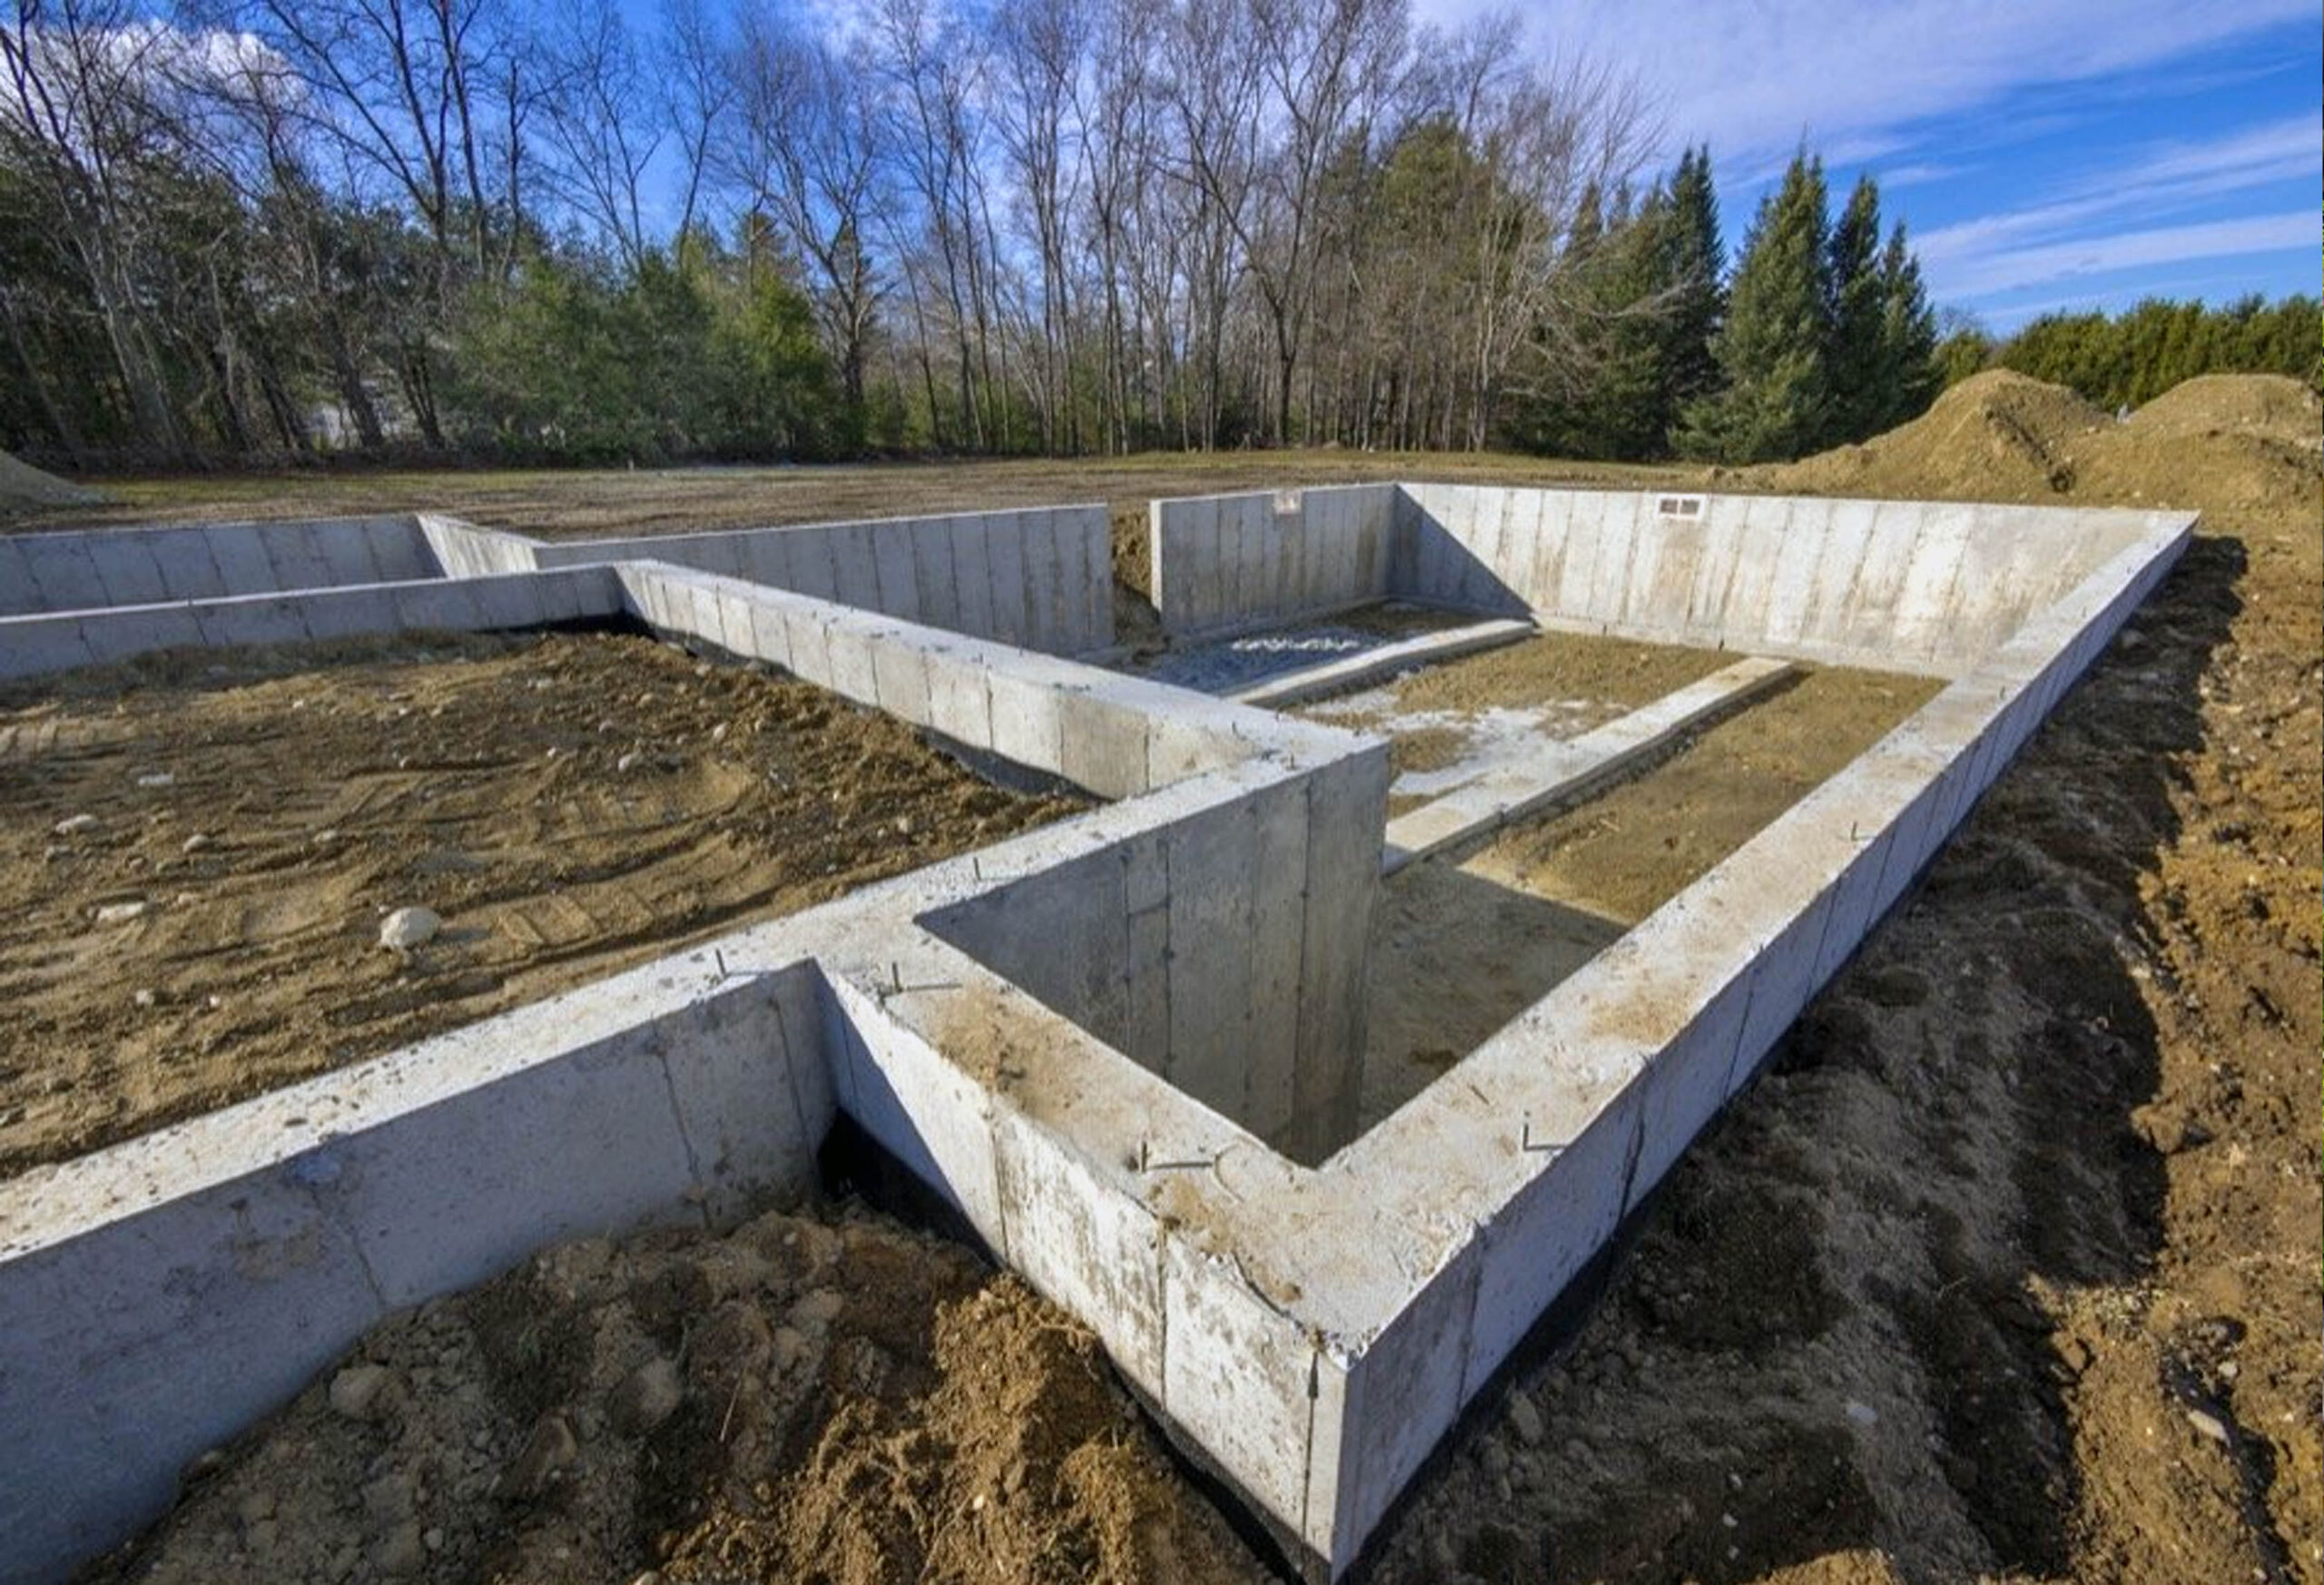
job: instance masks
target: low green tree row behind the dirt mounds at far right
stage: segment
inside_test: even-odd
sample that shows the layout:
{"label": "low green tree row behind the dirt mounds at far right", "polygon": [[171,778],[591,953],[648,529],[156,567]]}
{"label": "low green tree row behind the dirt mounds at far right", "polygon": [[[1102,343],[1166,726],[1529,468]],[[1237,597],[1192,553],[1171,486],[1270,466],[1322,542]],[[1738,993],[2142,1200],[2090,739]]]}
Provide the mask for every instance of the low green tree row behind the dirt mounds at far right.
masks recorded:
{"label": "low green tree row behind the dirt mounds at far right", "polygon": [[2217,309],[2147,297],[2122,314],[2043,314],[2006,339],[1957,325],[1938,365],[1948,386],[2017,370],[2117,409],[2145,407],[2196,374],[2289,374],[2324,393],[2324,311],[2303,293]]}

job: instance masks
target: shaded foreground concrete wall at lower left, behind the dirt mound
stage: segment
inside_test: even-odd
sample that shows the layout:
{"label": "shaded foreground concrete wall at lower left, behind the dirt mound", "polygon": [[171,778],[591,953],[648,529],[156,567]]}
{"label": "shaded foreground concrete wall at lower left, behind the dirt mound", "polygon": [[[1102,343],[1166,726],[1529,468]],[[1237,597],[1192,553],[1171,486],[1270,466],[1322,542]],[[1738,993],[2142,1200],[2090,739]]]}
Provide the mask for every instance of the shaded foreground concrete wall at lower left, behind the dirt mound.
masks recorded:
{"label": "shaded foreground concrete wall at lower left, behind the dirt mound", "polygon": [[400,1308],[813,1183],[825,999],[804,964],[679,992],[648,964],[0,1185],[0,1576],[158,1515]]}

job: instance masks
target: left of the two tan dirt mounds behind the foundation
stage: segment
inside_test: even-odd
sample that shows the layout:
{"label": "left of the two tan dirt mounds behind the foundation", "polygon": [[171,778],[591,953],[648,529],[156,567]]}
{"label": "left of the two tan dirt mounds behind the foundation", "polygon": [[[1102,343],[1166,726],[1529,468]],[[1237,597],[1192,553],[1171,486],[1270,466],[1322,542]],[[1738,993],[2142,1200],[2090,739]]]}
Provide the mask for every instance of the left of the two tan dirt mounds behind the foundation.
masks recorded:
{"label": "left of the two tan dirt mounds behind the foundation", "polygon": [[1862,446],[1752,469],[1752,481],[1785,495],[2038,502],[2073,490],[2078,453],[2110,425],[2064,386],[1987,370],[1913,423]]}

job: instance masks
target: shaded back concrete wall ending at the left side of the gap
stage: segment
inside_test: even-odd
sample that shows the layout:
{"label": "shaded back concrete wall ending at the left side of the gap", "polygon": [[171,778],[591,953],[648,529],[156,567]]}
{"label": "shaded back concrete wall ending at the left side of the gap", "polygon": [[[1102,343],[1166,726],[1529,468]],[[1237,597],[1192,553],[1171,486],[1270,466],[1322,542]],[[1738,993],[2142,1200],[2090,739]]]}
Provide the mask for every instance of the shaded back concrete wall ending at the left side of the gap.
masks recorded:
{"label": "shaded back concrete wall ending at the left side of the gap", "polygon": [[541,567],[655,560],[1050,655],[1113,646],[1104,507],[539,544]]}

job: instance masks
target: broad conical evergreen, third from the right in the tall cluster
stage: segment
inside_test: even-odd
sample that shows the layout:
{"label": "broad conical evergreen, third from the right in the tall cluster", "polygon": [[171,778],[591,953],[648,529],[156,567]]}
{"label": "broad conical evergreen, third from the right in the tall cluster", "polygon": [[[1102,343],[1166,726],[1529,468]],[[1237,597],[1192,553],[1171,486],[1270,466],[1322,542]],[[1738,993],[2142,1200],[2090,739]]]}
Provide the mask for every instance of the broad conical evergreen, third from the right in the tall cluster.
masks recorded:
{"label": "broad conical evergreen, third from the right in the tall cluster", "polygon": [[1722,386],[1687,409],[1683,446],[1722,462],[1813,449],[1831,400],[1824,163],[1801,149],[1759,214],[1713,342]]}

